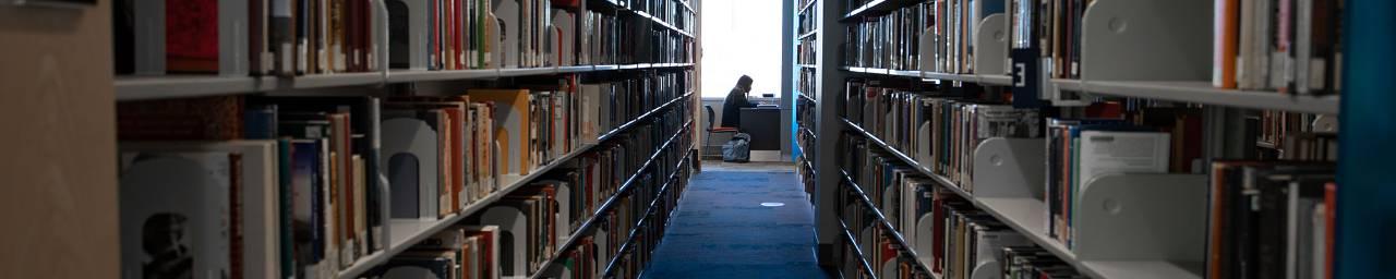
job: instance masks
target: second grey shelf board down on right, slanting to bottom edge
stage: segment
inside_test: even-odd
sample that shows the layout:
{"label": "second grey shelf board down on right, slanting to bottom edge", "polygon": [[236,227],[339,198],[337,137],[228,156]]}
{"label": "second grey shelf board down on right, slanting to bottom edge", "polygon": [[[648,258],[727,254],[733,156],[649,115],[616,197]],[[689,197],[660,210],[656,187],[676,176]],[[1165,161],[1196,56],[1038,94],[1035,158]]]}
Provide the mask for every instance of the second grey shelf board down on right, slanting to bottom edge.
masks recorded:
{"label": "second grey shelf board down on right, slanting to bottom edge", "polygon": [[1076,258],[1076,254],[1072,252],[1071,248],[1047,236],[1044,220],[1046,215],[1043,215],[1043,212],[1047,212],[1046,202],[1033,198],[976,198],[959,186],[951,183],[951,180],[944,176],[930,172],[927,167],[916,163],[916,160],[906,156],[896,148],[886,145],[886,142],[863,130],[857,124],[846,119],[843,123],[850,130],[863,134],[863,137],[868,138],[870,142],[879,145],[898,159],[902,159],[903,163],[921,172],[921,174],[931,177],[942,187],[949,188],[952,193],[960,195],[966,201],[970,201],[976,208],[988,212],[995,219],[1030,239],[1037,246],[1071,264],[1083,275],[1100,279],[1202,279],[1202,266],[1198,264],[1167,261],[1082,261]]}

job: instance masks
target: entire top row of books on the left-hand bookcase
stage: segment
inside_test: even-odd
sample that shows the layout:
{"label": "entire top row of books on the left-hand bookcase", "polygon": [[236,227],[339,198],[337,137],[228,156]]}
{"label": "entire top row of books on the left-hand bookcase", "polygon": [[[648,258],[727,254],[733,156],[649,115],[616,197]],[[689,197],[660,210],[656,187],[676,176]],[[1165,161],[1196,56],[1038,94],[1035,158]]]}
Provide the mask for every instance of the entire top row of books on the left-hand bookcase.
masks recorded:
{"label": "entire top row of books on the left-hand bookcase", "polygon": [[[604,18],[616,21],[616,15],[596,11],[582,18],[577,0],[124,0],[113,6],[119,75],[293,77],[383,68],[687,63],[692,43],[667,28],[655,31],[651,20],[635,14],[627,14],[632,17],[621,25],[606,24]],[[692,17],[687,14],[683,18]]]}

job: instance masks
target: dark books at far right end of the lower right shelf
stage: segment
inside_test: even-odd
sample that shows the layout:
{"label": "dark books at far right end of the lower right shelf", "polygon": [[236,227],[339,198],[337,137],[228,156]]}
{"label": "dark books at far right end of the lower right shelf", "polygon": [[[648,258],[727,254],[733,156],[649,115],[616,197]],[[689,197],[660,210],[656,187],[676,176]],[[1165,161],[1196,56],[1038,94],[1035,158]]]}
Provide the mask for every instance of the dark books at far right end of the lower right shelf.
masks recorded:
{"label": "dark books at far right end of the lower right shelf", "polygon": [[1213,162],[1206,278],[1332,278],[1336,170],[1332,162]]}

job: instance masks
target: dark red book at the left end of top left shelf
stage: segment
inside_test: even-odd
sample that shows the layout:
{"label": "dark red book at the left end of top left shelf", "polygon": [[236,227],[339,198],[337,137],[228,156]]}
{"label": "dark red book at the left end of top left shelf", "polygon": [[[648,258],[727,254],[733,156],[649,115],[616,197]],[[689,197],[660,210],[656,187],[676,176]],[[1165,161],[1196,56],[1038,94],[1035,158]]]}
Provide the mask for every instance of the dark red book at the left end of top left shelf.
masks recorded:
{"label": "dark red book at the left end of top left shelf", "polygon": [[165,70],[218,73],[218,1],[165,1]]}

